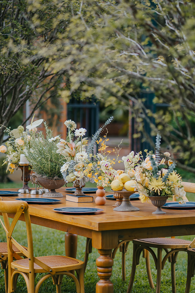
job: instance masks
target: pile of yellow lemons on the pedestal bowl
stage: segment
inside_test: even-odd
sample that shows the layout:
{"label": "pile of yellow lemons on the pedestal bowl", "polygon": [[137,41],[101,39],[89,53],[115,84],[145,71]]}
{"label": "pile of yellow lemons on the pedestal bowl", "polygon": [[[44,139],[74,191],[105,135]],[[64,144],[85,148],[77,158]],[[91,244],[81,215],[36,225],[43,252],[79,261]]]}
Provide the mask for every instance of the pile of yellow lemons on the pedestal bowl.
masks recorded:
{"label": "pile of yellow lemons on the pedestal bowl", "polygon": [[120,191],[123,188],[127,191],[134,191],[134,187],[131,187],[133,184],[136,184],[136,181],[131,180],[131,177],[128,174],[122,173],[117,180],[114,180],[111,183],[111,188],[115,191]]}

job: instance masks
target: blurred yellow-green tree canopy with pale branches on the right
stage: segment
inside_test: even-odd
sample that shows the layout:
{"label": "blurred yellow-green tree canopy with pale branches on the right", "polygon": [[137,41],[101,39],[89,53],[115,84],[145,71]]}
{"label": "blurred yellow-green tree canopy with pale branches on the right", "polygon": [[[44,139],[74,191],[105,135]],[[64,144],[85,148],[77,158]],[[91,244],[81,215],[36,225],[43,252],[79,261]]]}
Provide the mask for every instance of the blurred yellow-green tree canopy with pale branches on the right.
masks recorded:
{"label": "blurred yellow-green tree canopy with pale branches on the right", "polygon": [[[71,14],[58,43],[37,52],[52,59],[49,70],[68,70],[70,89],[61,96],[80,88],[82,98],[95,94],[107,106],[131,107],[138,130],[144,120],[152,135],[160,130],[178,165],[195,172],[195,1],[71,1]],[[151,113],[140,91],[169,107]]]}

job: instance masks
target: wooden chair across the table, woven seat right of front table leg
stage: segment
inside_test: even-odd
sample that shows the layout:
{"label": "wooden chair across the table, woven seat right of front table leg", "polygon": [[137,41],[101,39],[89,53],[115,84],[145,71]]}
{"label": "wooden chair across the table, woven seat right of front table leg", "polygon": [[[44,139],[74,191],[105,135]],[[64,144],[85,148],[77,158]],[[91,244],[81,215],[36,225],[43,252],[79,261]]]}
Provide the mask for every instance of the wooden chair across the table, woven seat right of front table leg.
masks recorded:
{"label": "wooden chair across the table, woven seat right of front table leg", "polygon": [[[182,182],[184,190],[186,192],[195,193],[195,183]],[[187,197],[184,199],[187,200]],[[175,198],[173,200],[176,201]],[[161,271],[164,269],[165,262],[168,260],[171,263],[171,282],[172,282],[172,293],[176,293],[175,285],[175,263],[177,262],[177,255],[179,251],[187,251],[187,247],[190,245],[191,241],[177,239],[175,237],[171,238],[148,238],[148,239],[134,239],[133,240],[133,260],[132,260],[132,271],[127,293],[130,293],[133,287],[135,271],[137,265],[139,265],[139,258],[141,251],[146,249],[149,251],[154,259],[155,267],[157,270],[156,278],[156,293],[160,293],[161,289]],[[157,248],[157,255],[152,250],[152,248]],[[162,251],[166,252],[162,260]]]}

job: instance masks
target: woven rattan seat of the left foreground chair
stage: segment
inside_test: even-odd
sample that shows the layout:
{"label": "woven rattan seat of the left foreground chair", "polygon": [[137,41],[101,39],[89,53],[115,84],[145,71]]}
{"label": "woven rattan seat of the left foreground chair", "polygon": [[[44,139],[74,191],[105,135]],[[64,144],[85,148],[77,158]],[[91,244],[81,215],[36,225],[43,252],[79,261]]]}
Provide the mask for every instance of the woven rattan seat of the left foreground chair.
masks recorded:
{"label": "woven rattan seat of the left foreground chair", "polygon": [[[39,256],[37,257],[38,260],[42,261],[49,267],[58,267],[58,266],[66,266],[66,265],[74,265],[79,263],[77,260],[74,260],[72,258],[68,258],[66,256],[62,255],[49,255],[49,256]],[[14,265],[24,266],[24,267],[29,267],[29,260],[28,258],[21,259],[21,260],[16,260],[13,262]],[[34,263],[34,268],[41,268],[39,265]]]}

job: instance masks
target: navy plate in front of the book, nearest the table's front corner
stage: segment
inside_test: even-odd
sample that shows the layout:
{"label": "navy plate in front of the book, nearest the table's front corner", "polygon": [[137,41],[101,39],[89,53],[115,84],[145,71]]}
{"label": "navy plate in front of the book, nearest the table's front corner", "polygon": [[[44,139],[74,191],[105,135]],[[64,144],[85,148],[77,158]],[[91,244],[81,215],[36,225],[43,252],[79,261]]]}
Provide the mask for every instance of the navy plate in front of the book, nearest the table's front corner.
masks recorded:
{"label": "navy plate in front of the book, nearest the table's front corner", "polygon": [[103,209],[98,209],[94,207],[57,207],[53,209],[55,212],[59,212],[62,214],[77,214],[77,215],[89,215],[94,214],[96,212],[102,212]]}

